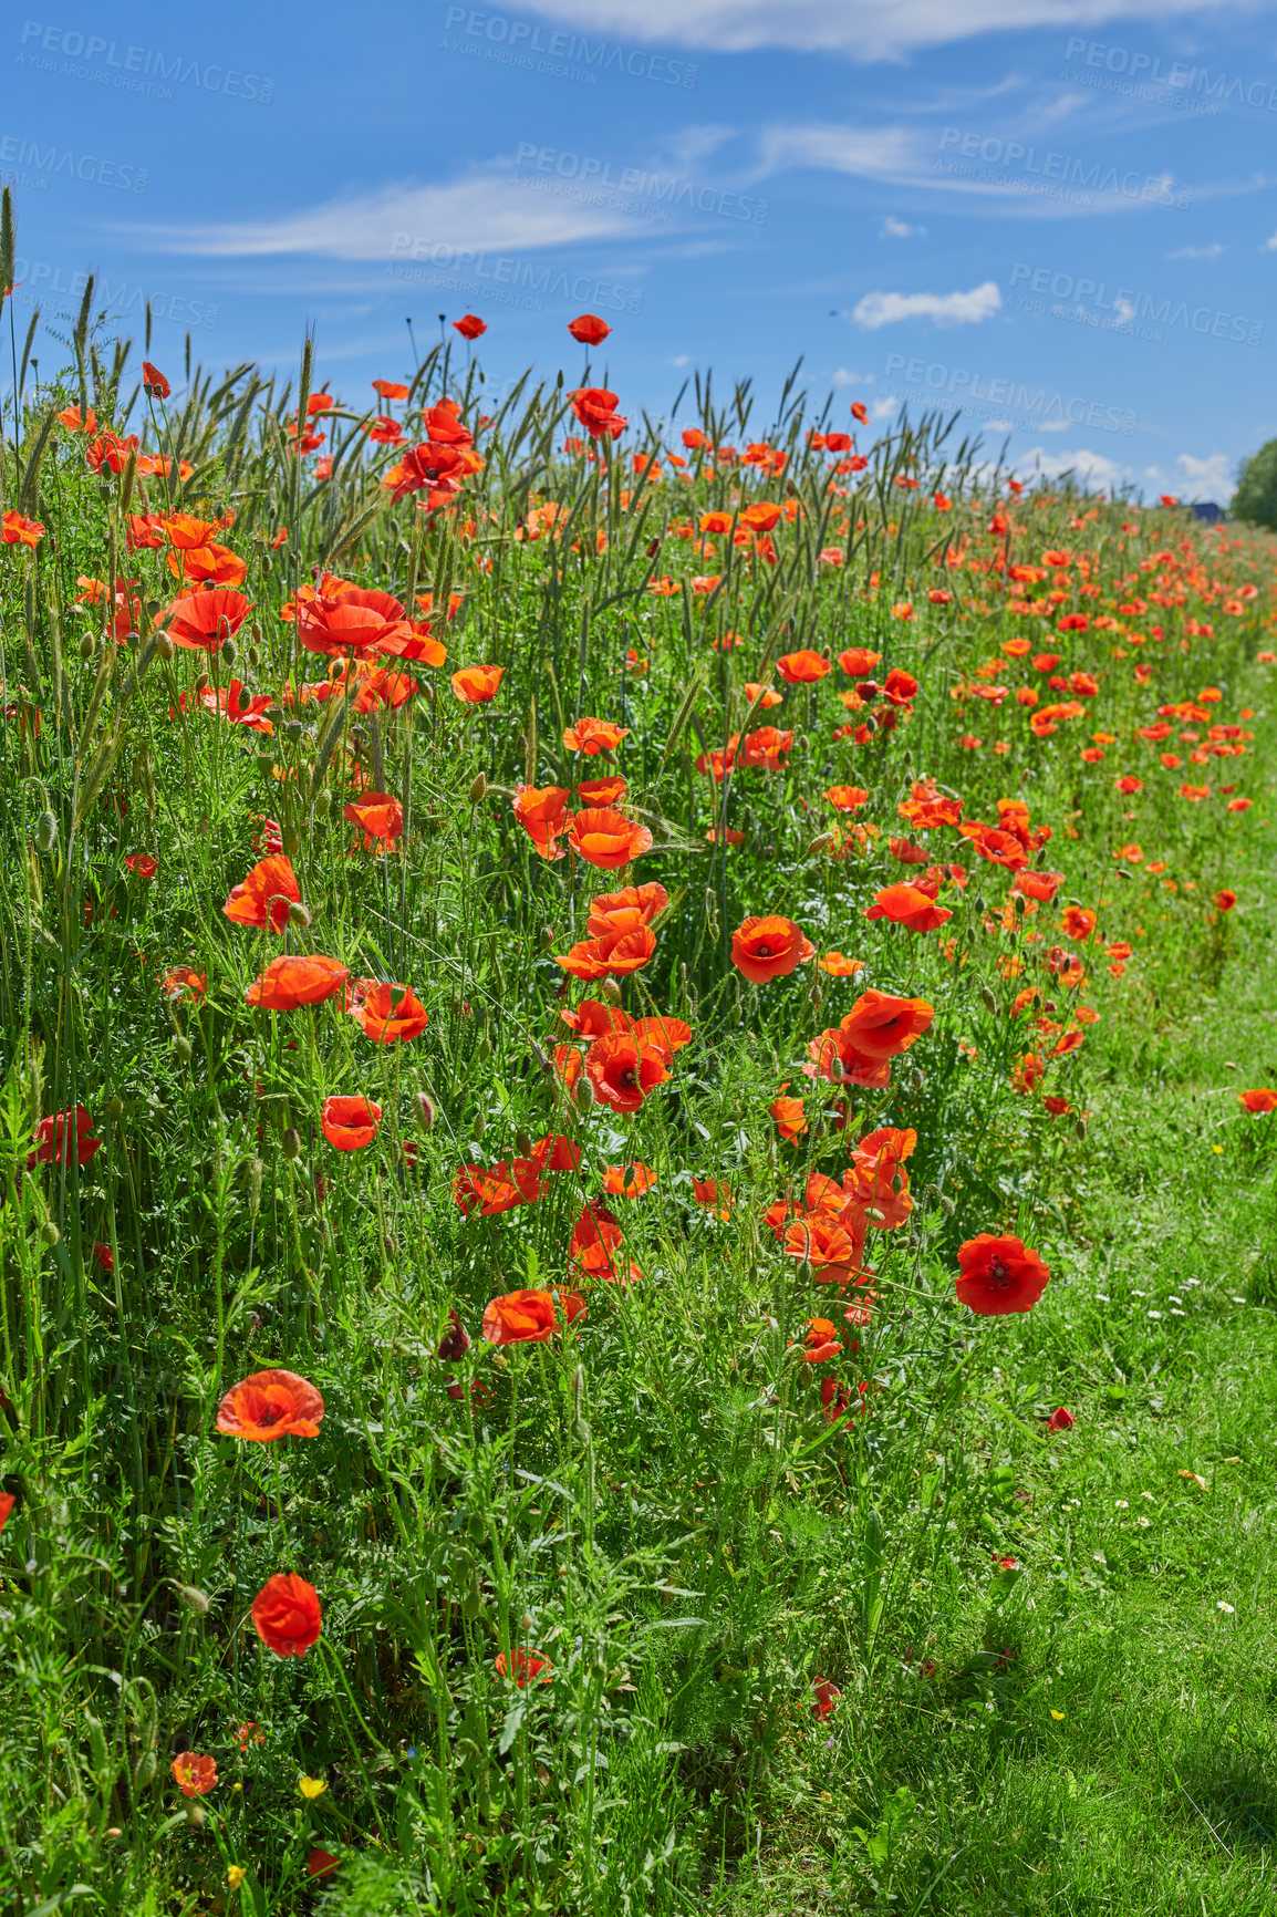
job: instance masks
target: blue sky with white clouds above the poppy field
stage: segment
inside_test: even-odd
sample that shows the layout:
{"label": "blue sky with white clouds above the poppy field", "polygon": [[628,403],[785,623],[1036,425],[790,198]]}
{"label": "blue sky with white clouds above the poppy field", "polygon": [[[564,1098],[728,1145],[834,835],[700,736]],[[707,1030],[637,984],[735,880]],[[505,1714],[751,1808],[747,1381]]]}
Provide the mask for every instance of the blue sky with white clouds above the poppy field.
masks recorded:
{"label": "blue sky with white clouds above the poppy field", "polygon": [[575,383],[594,311],[631,418],[713,368],[763,431],[803,355],[838,426],[963,404],[1018,470],[1145,497],[1223,500],[1277,433],[1271,8],[42,6],[0,29],[19,326],[94,270],[171,376],[188,326],[217,370],[311,326],[362,404],[408,316],[481,314],[500,393]]}

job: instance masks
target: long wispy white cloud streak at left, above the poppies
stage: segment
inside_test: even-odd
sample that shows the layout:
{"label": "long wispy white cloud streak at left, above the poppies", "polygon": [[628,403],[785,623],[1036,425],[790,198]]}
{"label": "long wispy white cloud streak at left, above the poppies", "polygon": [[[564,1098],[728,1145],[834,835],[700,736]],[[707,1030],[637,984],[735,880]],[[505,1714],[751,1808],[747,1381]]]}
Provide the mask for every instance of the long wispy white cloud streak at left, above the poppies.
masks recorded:
{"label": "long wispy white cloud streak at left, above the poppies", "polygon": [[[635,238],[623,213],[529,194],[508,173],[481,171],[445,186],[385,186],[330,199],[274,220],[130,226],[161,253],[251,257],[309,253],[320,259],[410,259],[420,242],[431,265],[453,253],[529,253],[579,240]],[[406,236],[406,240],[405,240]]]}

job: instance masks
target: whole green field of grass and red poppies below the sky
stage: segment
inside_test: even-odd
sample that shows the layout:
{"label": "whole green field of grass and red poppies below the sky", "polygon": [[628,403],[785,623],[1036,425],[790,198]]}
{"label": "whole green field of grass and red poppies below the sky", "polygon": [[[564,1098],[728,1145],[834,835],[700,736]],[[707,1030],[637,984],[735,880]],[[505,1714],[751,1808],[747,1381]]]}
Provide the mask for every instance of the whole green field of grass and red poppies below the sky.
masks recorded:
{"label": "whole green field of grass and red poppies below the sky", "polygon": [[1265,1911],[1273,543],[142,351],[4,410],[0,1907]]}

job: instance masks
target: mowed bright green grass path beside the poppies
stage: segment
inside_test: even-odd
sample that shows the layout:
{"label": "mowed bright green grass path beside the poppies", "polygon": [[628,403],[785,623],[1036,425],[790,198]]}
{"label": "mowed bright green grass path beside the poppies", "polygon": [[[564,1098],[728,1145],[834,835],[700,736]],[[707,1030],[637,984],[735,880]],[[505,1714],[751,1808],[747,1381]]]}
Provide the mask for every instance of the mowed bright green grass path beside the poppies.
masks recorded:
{"label": "mowed bright green grass path beside the poppies", "polygon": [[1108,1031],[1058,1277],[963,1420],[1026,1574],[1001,1608],[955,1578],[895,1712],[821,1727],[742,1917],[1273,1909],[1277,1185],[1235,1097],[1277,1077],[1271,909],[1218,989],[1158,983]]}

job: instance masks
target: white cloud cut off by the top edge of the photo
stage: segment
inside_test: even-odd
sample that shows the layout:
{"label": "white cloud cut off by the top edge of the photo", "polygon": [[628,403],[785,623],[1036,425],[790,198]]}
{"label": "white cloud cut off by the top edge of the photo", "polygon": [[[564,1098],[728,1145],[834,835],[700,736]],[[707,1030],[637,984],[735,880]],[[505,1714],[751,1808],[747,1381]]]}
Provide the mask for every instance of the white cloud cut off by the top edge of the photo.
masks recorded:
{"label": "white cloud cut off by the top edge of the photo", "polygon": [[[980,33],[1058,27],[1093,35],[1110,19],[1164,23],[1210,0],[525,0],[525,10],[583,33],[713,54],[759,46],[894,59]],[[569,58],[569,56],[568,56]]]}

